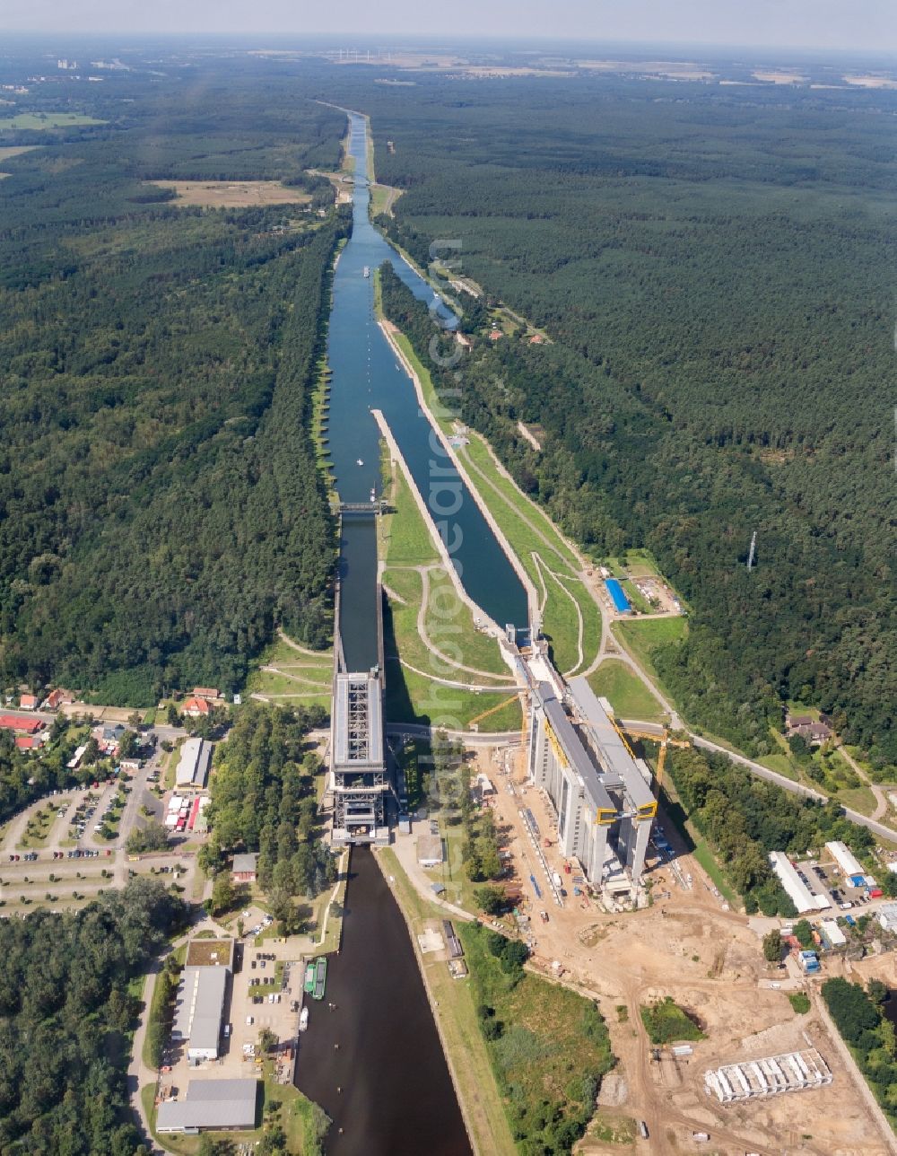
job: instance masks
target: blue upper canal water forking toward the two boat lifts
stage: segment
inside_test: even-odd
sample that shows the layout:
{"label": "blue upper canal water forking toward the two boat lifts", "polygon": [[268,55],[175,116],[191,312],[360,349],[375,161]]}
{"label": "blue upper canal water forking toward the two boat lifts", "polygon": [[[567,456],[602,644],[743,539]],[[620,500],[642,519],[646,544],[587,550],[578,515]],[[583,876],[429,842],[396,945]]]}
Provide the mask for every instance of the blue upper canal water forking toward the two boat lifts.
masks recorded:
{"label": "blue upper canal water forking toward the two boat lifts", "polygon": [[[527,600],[522,584],[442,447],[433,451],[438,443],[431,440],[431,427],[418,409],[414,385],[377,325],[373,272],[385,260],[392,262],[415,297],[433,305],[445,326],[452,327],[454,317],[371,224],[368,127],[364,118],[355,113],[350,123],[349,150],[355,158],[353,234],[334,275],[327,354],[333,371],[328,436],[336,489],[343,502],[368,502],[371,494],[379,495],[379,431],[370,410],[381,409],[437,524],[448,524],[450,547],[458,543],[453,558],[467,593],[499,625],[525,627]],[[464,380],[460,386],[464,388]],[[455,495],[460,498],[457,510],[452,509]],[[350,669],[363,670],[377,661],[376,631],[371,629],[376,622],[375,587],[366,586],[366,576],[376,570],[373,534],[347,518],[340,555],[346,661]]]}

